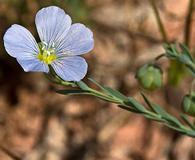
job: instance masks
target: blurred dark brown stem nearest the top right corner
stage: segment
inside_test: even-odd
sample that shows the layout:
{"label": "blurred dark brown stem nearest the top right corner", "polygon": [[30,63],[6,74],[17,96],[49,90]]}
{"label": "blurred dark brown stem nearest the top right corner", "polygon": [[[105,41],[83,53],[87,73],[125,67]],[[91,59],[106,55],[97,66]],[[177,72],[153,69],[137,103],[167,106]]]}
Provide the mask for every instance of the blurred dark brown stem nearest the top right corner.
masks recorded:
{"label": "blurred dark brown stem nearest the top right corner", "polygon": [[194,0],[189,0],[189,6],[188,6],[188,13],[185,21],[185,44],[189,47],[190,45],[190,34],[191,34],[191,27],[192,27],[192,13],[193,13],[193,7],[194,7]]}

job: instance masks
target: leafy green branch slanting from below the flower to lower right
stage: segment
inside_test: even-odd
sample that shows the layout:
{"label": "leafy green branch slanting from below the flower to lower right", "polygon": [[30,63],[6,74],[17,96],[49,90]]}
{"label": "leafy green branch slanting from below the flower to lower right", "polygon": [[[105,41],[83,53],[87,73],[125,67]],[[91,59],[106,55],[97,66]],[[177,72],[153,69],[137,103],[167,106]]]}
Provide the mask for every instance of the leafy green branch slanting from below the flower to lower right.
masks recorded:
{"label": "leafy green branch slanting from below the flower to lower right", "polygon": [[[163,123],[165,126],[173,130],[176,130],[177,132],[181,134],[184,134],[190,137],[195,137],[195,129],[192,127],[193,124],[191,124],[190,127],[189,127],[190,122],[188,122],[187,125],[184,125],[179,119],[177,119],[175,116],[166,112],[162,107],[151,103],[144,94],[142,94],[142,96],[146,104],[148,105],[148,107],[143,106],[141,103],[139,103],[134,98],[127,97],[117,90],[111,89],[109,87],[101,86],[94,80],[92,82],[94,82],[98,87],[100,87],[101,91],[97,91],[89,87],[84,82],[80,81],[80,82],[75,82],[75,85],[78,88],[78,90],[72,90],[72,92],[71,90],[61,90],[61,91],[58,91],[58,93],[64,94],[64,95],[71,95],[71,94],[92,95],[102,100],[115,103],[118,105],[118,107],[124,110],[127,110],[129,112],[134,112],[150,120]],[[64,86],[64,83],[62,83],[61,85]]]}

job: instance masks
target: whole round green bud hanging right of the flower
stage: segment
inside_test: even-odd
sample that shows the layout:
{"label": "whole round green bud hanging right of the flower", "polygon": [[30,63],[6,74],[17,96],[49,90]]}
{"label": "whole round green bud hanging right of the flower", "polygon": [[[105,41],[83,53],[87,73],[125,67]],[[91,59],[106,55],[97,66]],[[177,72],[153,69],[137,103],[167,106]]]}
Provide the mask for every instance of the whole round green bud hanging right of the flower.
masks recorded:
{"label": "whole round green bud hanging right of the flower", "polygon": [[147,90],[153,91],[162,86],[162,70],[153,64],[142,66],[136,74],[139,84]]}

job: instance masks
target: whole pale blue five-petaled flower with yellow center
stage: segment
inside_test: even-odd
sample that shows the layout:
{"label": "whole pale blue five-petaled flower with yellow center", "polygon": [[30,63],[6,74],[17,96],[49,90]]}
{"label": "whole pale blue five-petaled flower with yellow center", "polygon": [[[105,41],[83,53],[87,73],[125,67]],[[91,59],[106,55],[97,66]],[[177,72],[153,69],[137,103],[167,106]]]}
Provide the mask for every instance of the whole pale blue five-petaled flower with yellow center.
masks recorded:
{"label": "whole pale blue five-petaled flower with yellow center", "polygon": [[64,10],[51,6],[38,11],[35,23],[41,42],[24,27],[14,24],[4,35],[5,49],[24,71],[49,72],[49,65],[65,81],[80,81],[87,63],[79,57],[93,49],[93,33],[83,24],[72,24]]}

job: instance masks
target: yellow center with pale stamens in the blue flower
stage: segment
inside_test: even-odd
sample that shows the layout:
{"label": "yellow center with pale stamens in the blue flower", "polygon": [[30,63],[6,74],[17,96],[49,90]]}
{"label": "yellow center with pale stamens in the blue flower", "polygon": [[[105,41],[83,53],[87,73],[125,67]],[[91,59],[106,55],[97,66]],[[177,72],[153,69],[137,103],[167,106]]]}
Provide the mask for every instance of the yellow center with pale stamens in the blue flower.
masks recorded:
{"label": "yellow center with pale stamens in the blue flower", "polygon": [[55,49],[46,49],[44,44],[39,45],[39,53],[37,55],[37,58],[44,62],[45,64],[51,64],[54,60],[57,59],[57,56],[55,54]]}

